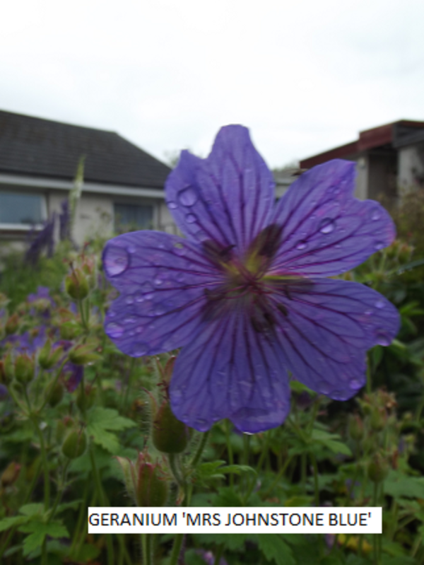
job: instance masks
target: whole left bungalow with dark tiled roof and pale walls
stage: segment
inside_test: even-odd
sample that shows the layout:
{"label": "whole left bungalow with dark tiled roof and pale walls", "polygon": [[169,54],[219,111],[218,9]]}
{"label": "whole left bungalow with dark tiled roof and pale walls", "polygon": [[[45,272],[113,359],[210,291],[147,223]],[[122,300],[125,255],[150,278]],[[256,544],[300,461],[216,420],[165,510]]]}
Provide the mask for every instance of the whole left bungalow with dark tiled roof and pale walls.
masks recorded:
{"label": "whole left bungalow with dark tiled roof and pale walls", "polygon": [[0,240],[22,242],[60,211],[83,156],[77,243],[113,229],[175,233],[163,190],[167,165],[114,132],[0,111]]}

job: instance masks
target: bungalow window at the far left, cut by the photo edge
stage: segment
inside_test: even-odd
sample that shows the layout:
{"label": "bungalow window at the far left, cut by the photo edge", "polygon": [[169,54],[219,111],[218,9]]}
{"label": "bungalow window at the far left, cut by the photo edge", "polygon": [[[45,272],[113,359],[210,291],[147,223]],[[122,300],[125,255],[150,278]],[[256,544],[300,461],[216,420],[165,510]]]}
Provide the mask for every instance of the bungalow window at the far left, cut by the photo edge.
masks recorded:
{"label": "bungalow window at the far left, cut by the photo edge", "polygon": [[45,219],[45,201],[42,194],[0,192],[0,223],[42,223]]}

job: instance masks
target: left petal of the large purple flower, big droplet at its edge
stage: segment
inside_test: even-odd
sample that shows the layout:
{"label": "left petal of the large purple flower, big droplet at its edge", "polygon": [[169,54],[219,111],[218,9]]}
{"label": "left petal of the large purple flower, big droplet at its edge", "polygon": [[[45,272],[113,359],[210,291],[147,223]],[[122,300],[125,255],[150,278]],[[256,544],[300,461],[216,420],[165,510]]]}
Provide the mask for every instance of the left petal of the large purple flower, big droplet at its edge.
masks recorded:
{"label": "left petal of the large purple flower, big droplet at its edge", "polygon": [[155,231],[108,241],[103,265],[121,293],[107,312],[105,332],[133,357],[170,351],[192,339],[205,289],[213,289],[222,276],[198,245]]}

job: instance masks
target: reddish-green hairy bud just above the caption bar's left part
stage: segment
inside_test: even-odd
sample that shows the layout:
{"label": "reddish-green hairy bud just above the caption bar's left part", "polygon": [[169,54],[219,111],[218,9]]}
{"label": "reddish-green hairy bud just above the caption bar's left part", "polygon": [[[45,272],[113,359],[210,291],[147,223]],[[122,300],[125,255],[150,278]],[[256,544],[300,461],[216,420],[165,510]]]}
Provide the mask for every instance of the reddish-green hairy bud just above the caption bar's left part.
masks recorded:
{"label": "reddish-green hairy bud just above the caption bar's left part", "polygon": [[135,463],[122,457],[117,457],[117,461],[126,490],[136,506],[165,506],[169,483],[158,463],[151,463],[146,453],[139,453]]}

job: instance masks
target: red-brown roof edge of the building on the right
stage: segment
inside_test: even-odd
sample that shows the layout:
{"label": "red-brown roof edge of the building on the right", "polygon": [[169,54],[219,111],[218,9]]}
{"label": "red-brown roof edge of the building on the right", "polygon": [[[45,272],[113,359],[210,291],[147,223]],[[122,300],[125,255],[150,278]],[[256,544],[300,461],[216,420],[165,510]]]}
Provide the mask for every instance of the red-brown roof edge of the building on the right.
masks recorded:
{"label": "red-brown roof edge of the building on the right", "polygon": [[379,127],[365,129],[357,141],[341,145],[300,161],[301,168],[311,168],[330,159],[355,159],[364,151],[379,147],[399,148],[424,141],[424,122],[399,120]]}

